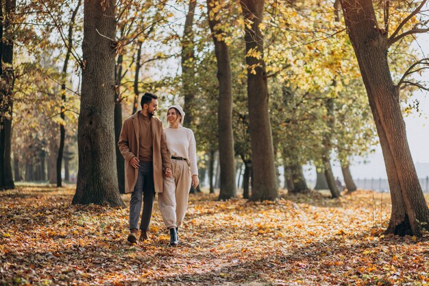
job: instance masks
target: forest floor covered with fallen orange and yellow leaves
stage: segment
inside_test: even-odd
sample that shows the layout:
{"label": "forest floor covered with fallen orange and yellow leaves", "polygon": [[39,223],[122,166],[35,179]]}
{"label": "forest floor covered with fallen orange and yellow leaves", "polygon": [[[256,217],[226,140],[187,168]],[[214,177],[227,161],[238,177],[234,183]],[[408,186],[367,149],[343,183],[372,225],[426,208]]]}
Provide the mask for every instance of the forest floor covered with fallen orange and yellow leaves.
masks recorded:
{"label": "forest floor covered with fallen orange and yellow leaves", "polygon": [[151,239],[131,245],[127,208],[71,206],[73,187],[0,192],[0,285],[429,285],[429,234],[382,235],[388,193],[199,193],[169,247],[158,204]]}

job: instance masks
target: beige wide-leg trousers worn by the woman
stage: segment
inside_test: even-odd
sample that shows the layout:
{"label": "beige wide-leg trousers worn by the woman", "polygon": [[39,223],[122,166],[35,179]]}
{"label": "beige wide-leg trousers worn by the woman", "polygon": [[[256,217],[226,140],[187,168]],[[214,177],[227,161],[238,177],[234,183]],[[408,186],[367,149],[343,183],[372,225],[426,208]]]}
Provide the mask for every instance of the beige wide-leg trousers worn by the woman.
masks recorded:
{"label": "beige wide-leg trousers worn by the woman", "polygon": [[188,208],[191,189],[191,170],[186,160],[171,159],[170,178],[164,177],[164,188],[158,193],[158,206],[167,228],[179,227]]}

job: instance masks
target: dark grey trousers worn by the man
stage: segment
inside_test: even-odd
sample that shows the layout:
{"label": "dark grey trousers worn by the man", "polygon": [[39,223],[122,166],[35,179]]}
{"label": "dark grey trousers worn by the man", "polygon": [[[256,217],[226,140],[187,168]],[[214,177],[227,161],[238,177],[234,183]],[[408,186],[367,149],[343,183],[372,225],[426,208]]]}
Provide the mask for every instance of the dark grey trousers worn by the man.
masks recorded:
{"label": "dark grey trousers worn by the man", "polygon": [[154,163],[140,162],[136,187],[134,187],[134,191],[131,194],[130,229],[138,228],[142,198],[143,215],[141,217],[140,229],[148,230],[155,198]]}

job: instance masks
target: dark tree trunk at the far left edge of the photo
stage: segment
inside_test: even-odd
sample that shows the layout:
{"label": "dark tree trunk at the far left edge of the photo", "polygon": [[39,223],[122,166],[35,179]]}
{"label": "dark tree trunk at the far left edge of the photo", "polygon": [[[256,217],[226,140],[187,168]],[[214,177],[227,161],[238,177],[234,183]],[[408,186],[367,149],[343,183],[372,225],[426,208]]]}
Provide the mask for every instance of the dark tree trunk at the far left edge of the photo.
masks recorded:
{"label": "dark tree trunk at the far left edge of the photo", "polygon": [[0,38],[0,189],[14,189],[11,158],[12,109],[15,82],[12,17],[15,13],[16,0],[5,0],[4,6],[3,1],[1,1],[0,6],[1,34],[4,33]]}

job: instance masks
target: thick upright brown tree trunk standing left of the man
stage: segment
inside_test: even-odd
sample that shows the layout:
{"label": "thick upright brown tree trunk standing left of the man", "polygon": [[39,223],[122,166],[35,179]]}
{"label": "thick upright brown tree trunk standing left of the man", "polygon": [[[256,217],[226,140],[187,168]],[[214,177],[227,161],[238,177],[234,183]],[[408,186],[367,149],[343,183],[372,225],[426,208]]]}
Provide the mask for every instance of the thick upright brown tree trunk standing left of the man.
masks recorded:
{"label": "thick upright brown tree trunk standing left of the man", "polygon": [[[82,97],[77,145],[79,171],[72,204],[125,206],[114,151],[114,0],[84,1]],[[101,36],[103,35],[103,36]]]}

